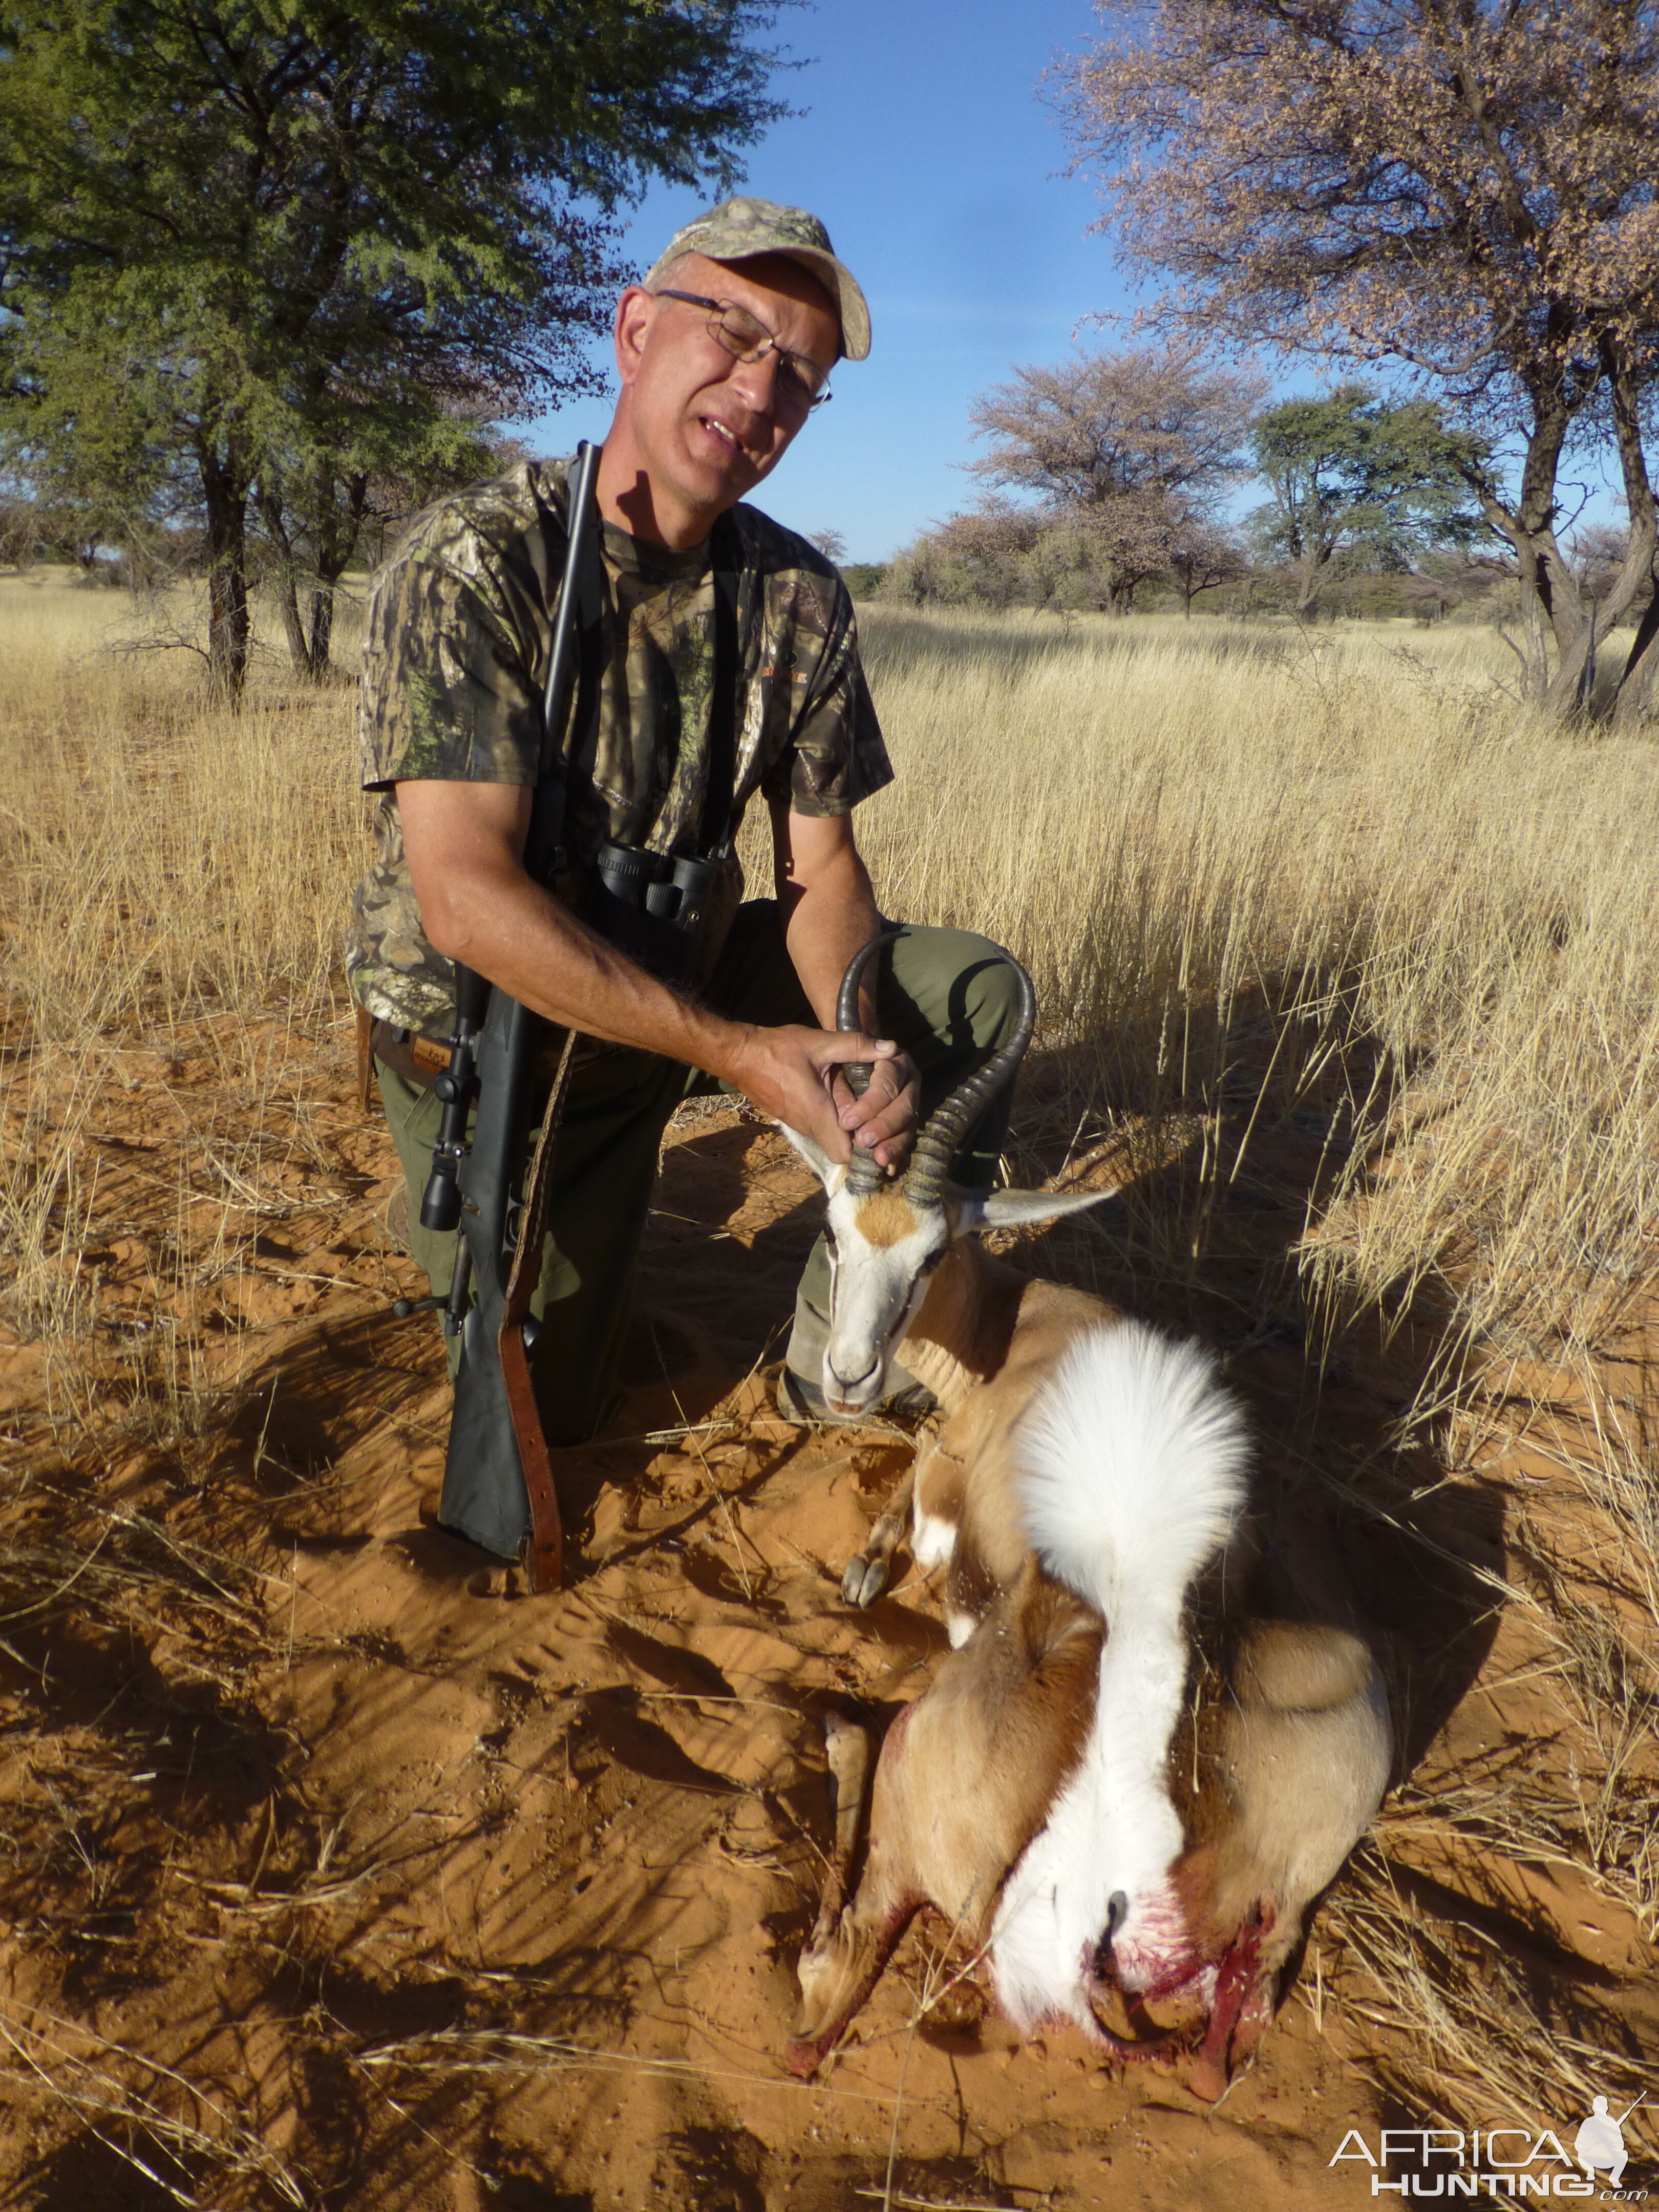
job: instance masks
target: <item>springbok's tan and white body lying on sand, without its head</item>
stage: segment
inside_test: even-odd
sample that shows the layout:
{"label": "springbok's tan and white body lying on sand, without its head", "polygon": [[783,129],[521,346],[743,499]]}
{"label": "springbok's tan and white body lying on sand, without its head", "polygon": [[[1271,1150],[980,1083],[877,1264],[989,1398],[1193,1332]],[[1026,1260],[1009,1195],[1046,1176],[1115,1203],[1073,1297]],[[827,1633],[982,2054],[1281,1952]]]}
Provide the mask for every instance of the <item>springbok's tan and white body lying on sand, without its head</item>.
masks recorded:
{"label": "springbok's tan and white body lying on sand, without its head", "polygon": [[794,2073],[931,1902],[1022,2033],[1073,2020],[1126,2059],[1197,2042],[1188,2079],[1214,2099],[1387,1787],[1371,1652],[1296,1513],[1256,1544],[1210,1358],[1068,1296],[1015,1323],[918,1462],[916,1551],[949,1566],[956,1648],[887,1730],[849,1905],[872,1743],[827,1730],[836,1845]]}

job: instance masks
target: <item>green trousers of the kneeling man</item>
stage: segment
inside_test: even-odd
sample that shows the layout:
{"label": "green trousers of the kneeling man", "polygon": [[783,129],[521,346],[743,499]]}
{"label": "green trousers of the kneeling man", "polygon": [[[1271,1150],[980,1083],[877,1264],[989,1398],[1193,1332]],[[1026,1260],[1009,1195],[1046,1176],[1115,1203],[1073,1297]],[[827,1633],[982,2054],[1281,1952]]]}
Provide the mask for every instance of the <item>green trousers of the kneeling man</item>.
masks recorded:
{"label": "green trousers of the kneeling man", "polygon": [[[739,907],[703,1000],[737,1022],[816,1026],[772,900]],[[964,929],[911,929],[883,956],[880,1035],[894,1037],[916,1062],[922,1113],[1006,1042],[1015,1011],[1013,971],[989,938]],[[434,1292],[447,1294],[456,1237],[420,1228],[420,1194],[442,1108],[429,1091],[378,1060],[376,1075],[409,1183],[409,1254]],[[553,1152],[542,1279],[531,1298],[531,1312],[544,1323],[531,1374],[549,1444],[580,1444],[611,1405],[661,1133],[681,1099],[719,1088],[730,1086],[701,1068],[622,1044],[593,1051],[571,1075]],[[984,1188],[993,1181],[1009,1106],[1004,1093],[969,1135],[953,1170],[960,1183]],[[827,1305],[830,1261],[821,1237],[801,1276],[796,1314],[803,1307],[823,1314]],[[449,1338],[451,1374],[456,1356],[458,1340]]]}

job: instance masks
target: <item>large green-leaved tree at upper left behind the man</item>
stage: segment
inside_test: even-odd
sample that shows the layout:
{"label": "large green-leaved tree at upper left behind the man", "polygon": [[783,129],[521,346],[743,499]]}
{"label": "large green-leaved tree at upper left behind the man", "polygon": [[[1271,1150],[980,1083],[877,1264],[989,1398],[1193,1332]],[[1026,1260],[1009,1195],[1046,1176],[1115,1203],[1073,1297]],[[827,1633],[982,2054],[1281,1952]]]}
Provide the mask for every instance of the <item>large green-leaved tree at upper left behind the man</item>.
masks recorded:
{"label": "large green-leaved tree at upper left behind the man", "polygon": [[325,575],[400,449],[584,389],[624,274],[606,212],[650,175],[732,181],[779,113],[770,22],[768,0],[0,0],[0,458],[135,513],[186,476],[237,692],[250,498],[268,526],[310,509]]}

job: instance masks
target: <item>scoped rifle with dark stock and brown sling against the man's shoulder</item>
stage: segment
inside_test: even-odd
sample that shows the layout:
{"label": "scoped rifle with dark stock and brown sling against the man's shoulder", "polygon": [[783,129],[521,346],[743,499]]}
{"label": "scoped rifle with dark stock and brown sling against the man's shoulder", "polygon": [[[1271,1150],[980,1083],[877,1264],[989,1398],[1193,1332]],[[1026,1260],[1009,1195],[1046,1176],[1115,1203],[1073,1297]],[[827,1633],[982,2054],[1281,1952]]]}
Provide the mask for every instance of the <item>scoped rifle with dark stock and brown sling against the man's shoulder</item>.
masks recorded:
{"label": "scoped rifle with dark stock and brown sling against the man's shoulder", "polygon": [[[535,785],[526,863],[557,865],[564,836],[560,737],[573,684],[575,602],[593,542],[593,480],[599,449],[586,440],[568,473],[566,555],[542,699],[542,774]],[[546,1022],[484,975],[456,962],[456,1033],[449,1066],[434,1082],[442,1099],[420,1223],[460,1230],[447,1298],[400,1298],[394,1314],[438,1307],[447,1336],[460,1336],[456,1409],[449,1420],[438,1522],[502,1557],[522,1557],[533,1590],[555,1590],[564,1575],[564,1535],[542,1418],[531,1387],[529,1316],[542,1265],[542,1230],[553,1139],[571,1079],[575,1031],[564,1037],[542,1133],[513,1197],[531,1113],[531,1068]],[[471,1139],[467,1119],[476,1104]]]}

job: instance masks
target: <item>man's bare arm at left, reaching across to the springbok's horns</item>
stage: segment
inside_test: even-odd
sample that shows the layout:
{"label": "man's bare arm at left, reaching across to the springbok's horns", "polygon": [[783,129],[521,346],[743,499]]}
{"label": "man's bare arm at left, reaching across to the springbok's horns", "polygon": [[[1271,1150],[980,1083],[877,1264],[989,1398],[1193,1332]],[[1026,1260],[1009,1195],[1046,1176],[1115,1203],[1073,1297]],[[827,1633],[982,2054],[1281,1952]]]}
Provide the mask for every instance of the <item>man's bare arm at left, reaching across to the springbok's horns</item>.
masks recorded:
{"label": "man's bare arm at left, reaching across to the springbok's horns", "polygon": [[[880,1064],[894,1046],[794,1024],[726,1022],[677,998],[524,874],[531,796],[518,783],[398,783],[409,880],[436,951],[549,1022],[708,1068],[845,1159],[834,1071],[847,1060]],[[818,995],[807,995],[823,1013]],[[834,1029],[834,989],[827,1018]]]}

